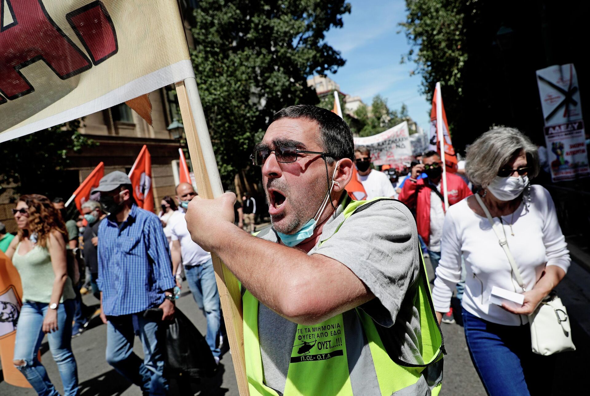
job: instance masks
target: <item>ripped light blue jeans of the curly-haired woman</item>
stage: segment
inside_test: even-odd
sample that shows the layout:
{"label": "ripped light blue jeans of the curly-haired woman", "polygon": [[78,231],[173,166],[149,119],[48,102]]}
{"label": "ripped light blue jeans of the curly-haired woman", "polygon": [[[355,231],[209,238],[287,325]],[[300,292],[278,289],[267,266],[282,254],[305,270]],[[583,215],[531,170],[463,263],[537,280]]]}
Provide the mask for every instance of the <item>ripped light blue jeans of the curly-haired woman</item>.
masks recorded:
{"label": "ripped light blue jeans of the curly-haired woman", "polygon": [[[65,396],[78,395],[78,368],[71,348],[72,318],[75,302],[65,300],[57,308],[57,331],[47,334],[49,349],[57,369],[60,371]],[[17,366],[40,396],[58,396],[59,393],[47,376],[47,371],[37,359],[37,352],[43,341],[43,319],[49,304],[27,301],[22,305],[17,324],[17,337],[14,344],[14,359],[23,360]]]}

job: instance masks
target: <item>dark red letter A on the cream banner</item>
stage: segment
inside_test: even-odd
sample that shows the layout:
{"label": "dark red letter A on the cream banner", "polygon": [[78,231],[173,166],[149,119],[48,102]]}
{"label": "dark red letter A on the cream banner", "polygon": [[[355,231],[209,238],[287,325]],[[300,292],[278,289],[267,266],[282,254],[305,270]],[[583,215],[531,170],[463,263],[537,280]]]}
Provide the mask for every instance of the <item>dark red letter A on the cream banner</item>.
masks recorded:
{"label": "dark red letter A on the cream banner", "polygon": [[34,62],[44,61],[62,80],[92,67],[86,55],[47,14],[41,0],[0,1],[7,2],[14,19],[0,26],[0,92],[8,99],[34,91],[20,72]]}

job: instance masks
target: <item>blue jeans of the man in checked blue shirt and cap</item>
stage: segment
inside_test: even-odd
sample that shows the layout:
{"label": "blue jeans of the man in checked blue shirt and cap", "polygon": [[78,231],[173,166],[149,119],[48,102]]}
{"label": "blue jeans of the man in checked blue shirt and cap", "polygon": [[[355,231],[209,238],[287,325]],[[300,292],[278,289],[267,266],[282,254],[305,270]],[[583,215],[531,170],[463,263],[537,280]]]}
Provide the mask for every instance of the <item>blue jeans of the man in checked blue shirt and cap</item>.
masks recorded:
{"label": "blue jeans of the man in checked blue shirt and cap", "polygon": [[150,396],[165,396],[168,389],[163,377],[166,326],[162,321],[137,314],[139,339],[143,345],[143,361],[133,353],[133,315],[107,316],[107,363]]}

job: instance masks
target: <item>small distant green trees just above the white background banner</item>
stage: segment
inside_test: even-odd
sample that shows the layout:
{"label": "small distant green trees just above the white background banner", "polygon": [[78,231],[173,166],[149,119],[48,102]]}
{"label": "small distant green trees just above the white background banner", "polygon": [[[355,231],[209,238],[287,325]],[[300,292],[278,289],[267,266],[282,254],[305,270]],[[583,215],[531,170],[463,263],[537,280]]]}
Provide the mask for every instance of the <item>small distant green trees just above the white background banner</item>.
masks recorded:
{"label": "small distant green trees just above the white background banner", "polygon": [[391,110],[385,98],[375,95],[371,108],[361,104],[355,111],[355,117],[362,126],[358,131],[359,136],[372,136],[404,121],[404,118],[408,117],[408,108],[402,104],[399,111]]}

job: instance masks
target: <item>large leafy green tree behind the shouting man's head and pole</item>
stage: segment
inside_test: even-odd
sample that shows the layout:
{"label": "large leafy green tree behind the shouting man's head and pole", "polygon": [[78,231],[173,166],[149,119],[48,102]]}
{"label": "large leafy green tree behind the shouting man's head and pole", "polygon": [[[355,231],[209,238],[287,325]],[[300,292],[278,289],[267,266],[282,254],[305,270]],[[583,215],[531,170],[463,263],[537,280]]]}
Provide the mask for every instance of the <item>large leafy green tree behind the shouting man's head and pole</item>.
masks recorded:
{"label": "large leafy green tree behind the shouting man's head and pole", "polygon": [[196,79],[219,171],[226,185],[273,114],[316,104],[306,78],[345,60],[324,41],[350,12],[345,0],[201,0],[194,12]]}

